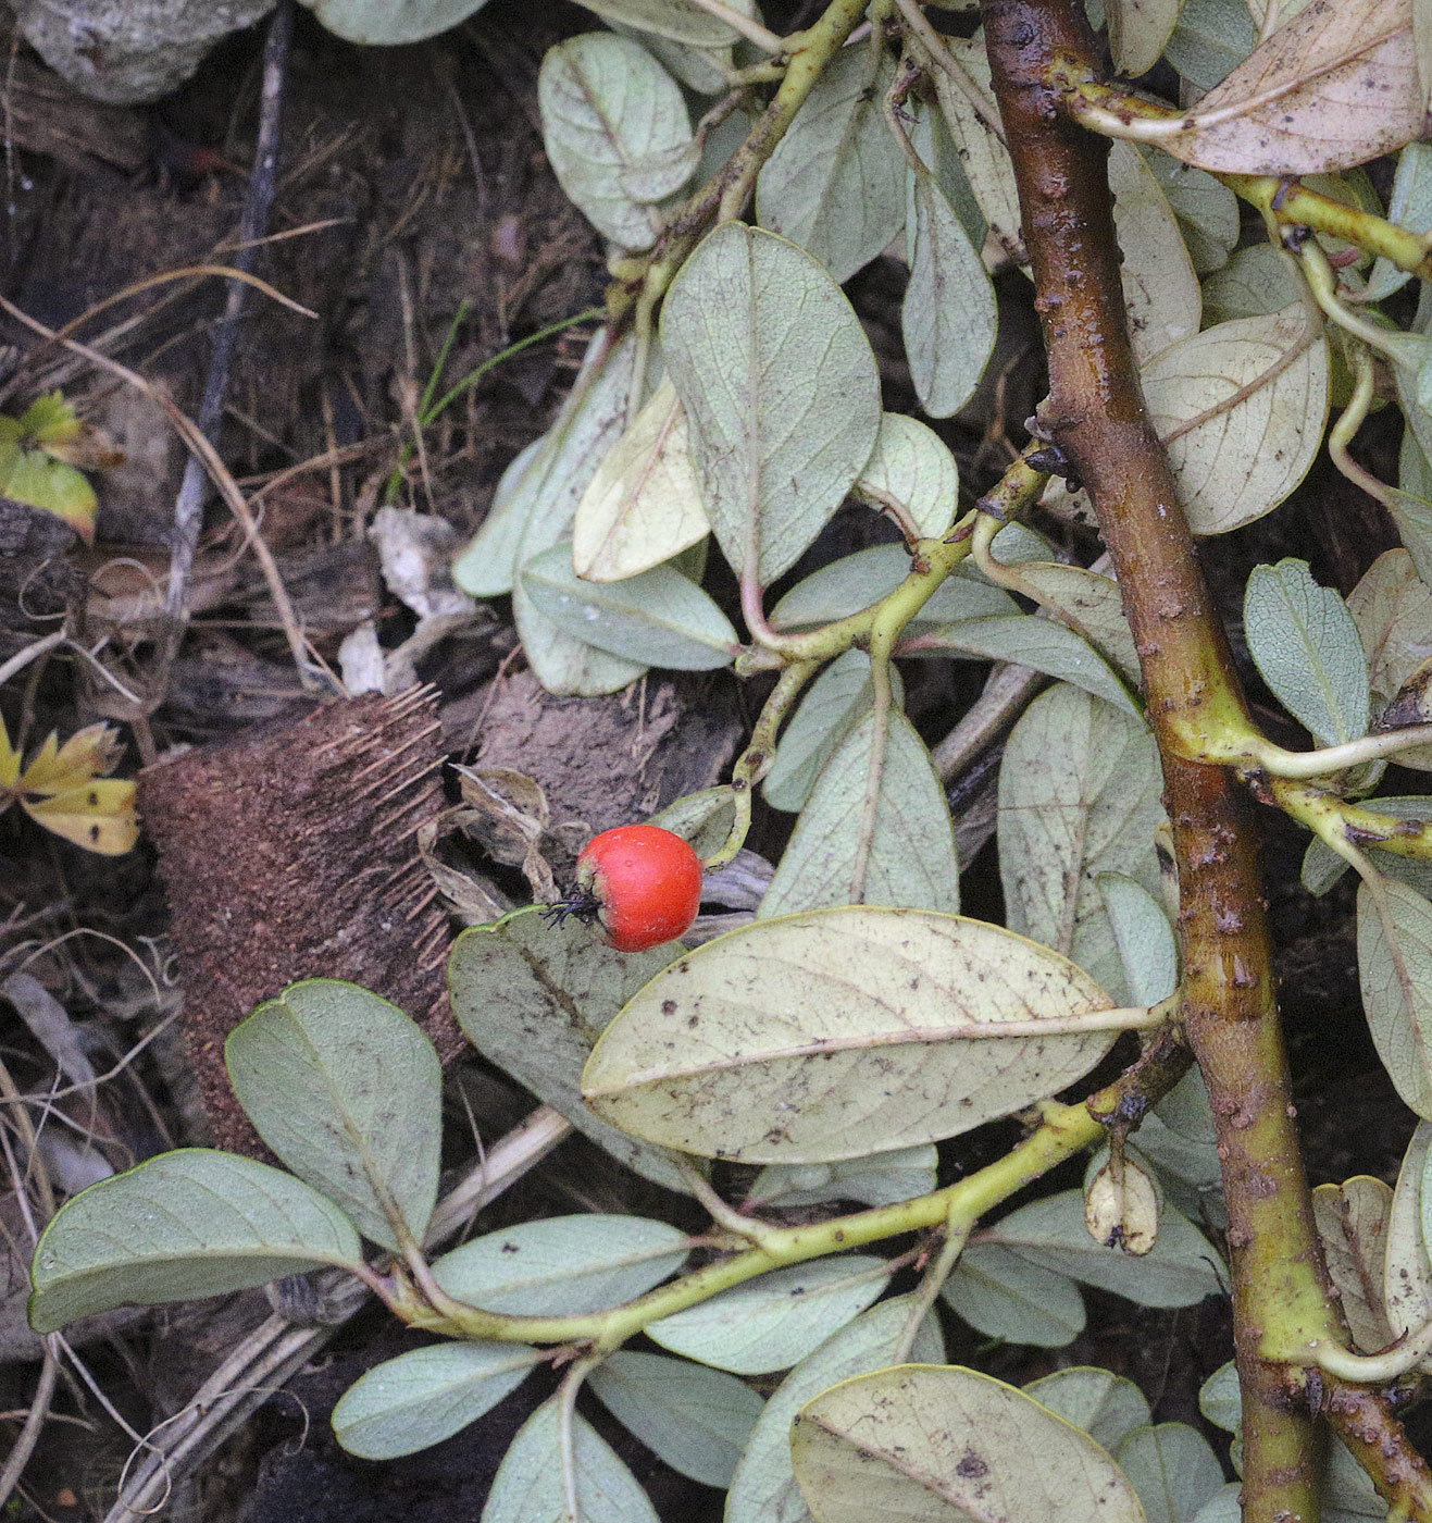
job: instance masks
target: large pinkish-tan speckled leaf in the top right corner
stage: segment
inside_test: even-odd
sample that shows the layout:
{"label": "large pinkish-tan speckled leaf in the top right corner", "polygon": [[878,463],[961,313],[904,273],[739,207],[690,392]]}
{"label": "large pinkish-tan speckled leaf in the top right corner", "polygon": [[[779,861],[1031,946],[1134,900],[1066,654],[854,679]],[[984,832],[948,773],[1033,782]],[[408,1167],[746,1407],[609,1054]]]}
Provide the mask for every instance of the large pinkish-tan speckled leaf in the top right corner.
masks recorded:
{"label": "large pinkish-tan speckled leaf in the top right corner", "polygon": [[1160,148],[1202,169],[1347,169],[1423,133],[1412,0],[1313,0],[1198,104]]}

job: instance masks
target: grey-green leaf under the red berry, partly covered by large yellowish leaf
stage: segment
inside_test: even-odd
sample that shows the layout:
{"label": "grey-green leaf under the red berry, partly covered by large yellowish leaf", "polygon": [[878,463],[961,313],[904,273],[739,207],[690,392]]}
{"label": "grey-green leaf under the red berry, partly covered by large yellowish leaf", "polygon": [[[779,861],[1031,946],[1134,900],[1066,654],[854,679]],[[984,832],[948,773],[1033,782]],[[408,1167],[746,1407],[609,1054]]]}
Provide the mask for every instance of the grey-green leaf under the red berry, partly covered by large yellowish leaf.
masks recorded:
{"label": "grey-green leaf under the red berry, partly covered by large yellowish leaf", "polygon": [[473,926],[447,959],[452,1011],[467,1040],[618,1162],[668,1189],[686,1183],[662,1148],[595,1116],[581,1066],[612,1019],[671,959],[671,947],[616,952],[595,928],[552,928],[536,914]]}

